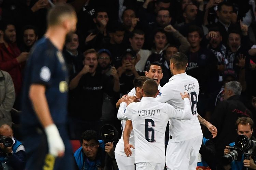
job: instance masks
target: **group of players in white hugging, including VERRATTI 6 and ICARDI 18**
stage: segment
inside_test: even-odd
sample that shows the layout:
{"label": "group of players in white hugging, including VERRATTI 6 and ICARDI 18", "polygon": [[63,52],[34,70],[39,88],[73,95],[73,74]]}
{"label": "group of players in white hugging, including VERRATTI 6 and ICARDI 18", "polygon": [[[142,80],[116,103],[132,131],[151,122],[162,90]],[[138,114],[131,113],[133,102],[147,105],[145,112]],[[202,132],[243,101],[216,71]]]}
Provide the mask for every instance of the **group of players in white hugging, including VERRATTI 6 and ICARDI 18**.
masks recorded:
{"label": "group of players in white hugging, including VERRATTI 6 and ICARDI 18", "polygon": [[[161,66],[149,67],[152,68],[146,72],[148,78],[141,79],[141,86],[134,83],[135,97],[128,94],[117,102],[117,117],[124,127],[115,150],[118,168],[134,169],[135,165],[136,170],[163,170],[166,164],[168,170],[195,170],[202,143],[200,123],[207,126],[213,137],[217,129],[197,113],[199,84],[185,72],[187,56],[183,53],[172,55],[170,70],[173,76],[160,88]],[[149,76],[150,72],[161,76],[155,80],[155,75]],[[165,154],[168,121],[169,142]]]}

